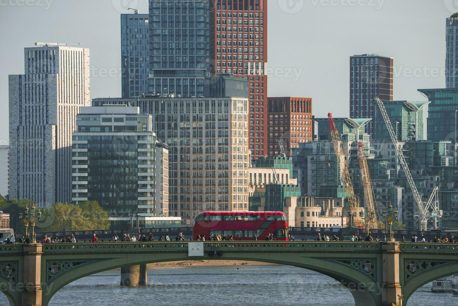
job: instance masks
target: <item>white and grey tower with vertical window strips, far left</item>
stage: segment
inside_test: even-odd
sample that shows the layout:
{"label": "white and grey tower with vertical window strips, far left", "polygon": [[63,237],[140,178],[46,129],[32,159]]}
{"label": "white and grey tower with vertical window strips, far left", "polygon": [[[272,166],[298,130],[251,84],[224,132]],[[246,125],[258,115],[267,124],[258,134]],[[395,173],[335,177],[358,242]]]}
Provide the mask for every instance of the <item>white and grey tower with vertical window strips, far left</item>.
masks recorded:
{"label": "white and grey tower with vertical window strips, far left", "polygon": [[25,74],[9,76],[10,197],[43,207],[71,201],[71,133],[89,99],[89,49],[24,49]]}

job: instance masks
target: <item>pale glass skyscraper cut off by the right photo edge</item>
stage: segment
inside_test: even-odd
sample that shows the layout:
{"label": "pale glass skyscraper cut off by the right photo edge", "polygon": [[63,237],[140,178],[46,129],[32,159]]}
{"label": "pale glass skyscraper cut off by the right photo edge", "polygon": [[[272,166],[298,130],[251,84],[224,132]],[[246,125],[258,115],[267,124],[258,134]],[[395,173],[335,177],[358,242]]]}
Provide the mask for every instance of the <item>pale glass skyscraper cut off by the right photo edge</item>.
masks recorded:
{"label": "pale glass skyscraper cut off by the right photo edge", "polygon": [[445,82],[447,88],[458,87],[458,14],[447,18],[446,25],[446,46],[445,55]]}

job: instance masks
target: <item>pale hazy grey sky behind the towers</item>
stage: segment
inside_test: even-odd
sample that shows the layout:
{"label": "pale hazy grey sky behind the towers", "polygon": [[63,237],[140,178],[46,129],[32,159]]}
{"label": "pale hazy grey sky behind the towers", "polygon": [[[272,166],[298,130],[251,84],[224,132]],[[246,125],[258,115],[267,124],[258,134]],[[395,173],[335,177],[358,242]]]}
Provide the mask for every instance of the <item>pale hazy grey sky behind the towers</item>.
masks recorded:
{"label": "pale hazy grey sky behind the towers", "polygon": [[[445,18],[455,0],[268,0],[268,96],[313,98],[313,113],[349,115],[349,56],[394,58],[394,99],[445,87]],[[457,3],[458,5],[458,3]],[[24,47],[83,43],[91,98],[120,97],[120,13],[147,0],[0,0],[0,144],[8,142],[8,75]]]}

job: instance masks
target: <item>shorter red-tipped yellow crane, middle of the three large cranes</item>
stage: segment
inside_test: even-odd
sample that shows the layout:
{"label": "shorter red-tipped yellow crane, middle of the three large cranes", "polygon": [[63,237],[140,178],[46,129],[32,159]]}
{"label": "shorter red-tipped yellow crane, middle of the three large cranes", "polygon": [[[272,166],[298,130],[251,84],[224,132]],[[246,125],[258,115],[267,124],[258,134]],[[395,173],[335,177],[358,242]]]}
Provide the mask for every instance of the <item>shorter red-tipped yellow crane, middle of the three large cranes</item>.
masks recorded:
{"label": "shorter red-tipped yellow crane, middle of the three large cranes", "polygon": [[369,174],[366,154],[364,153],[364,144],[362,142],[358,142],[358,156],[360,158],[361,180],[363,182],[364,197],[366,200],[366,226],[369,225],[371,229],[377,229],[376,201],[372,193],[371,175]]}

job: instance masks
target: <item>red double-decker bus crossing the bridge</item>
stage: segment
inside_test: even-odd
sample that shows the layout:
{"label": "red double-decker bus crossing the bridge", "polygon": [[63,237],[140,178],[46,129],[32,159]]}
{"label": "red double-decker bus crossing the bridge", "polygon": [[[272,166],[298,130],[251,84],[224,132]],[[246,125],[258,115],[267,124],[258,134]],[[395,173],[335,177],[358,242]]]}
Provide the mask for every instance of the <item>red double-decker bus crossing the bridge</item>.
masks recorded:
{"label": "red double-decker bus crossing the bridge", "polygon": [[265,240],[273,234],[274,240],[288,240],[288,224],[282,212],[205,212],[194,218],[192,239],[197,236],[209,240],[210,235],[230,236],[234,240]]}

